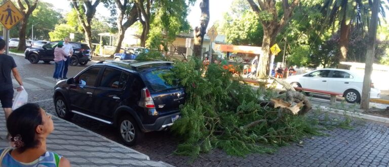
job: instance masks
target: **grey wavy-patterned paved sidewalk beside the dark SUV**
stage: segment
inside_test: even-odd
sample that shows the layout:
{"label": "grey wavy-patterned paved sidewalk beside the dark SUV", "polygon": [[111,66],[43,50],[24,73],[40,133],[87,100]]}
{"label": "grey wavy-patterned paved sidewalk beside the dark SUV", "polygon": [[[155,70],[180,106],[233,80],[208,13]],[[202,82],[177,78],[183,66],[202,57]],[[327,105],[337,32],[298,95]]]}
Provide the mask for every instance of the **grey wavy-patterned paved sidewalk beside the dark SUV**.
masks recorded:
{"label": "grey wavy-patterned paved sidewalk beside the dark SUV", "polygon": [[[54,132],[48,137],[49,151],[57,152],[69,159],[72,166],[171,166],[162,161],[152,161],[138,151],[106,139],[59,119],[53,115]],[[0,109],[0,135],[7,134],[4,111]],[[0,147],[8,147],[0,140]]]}

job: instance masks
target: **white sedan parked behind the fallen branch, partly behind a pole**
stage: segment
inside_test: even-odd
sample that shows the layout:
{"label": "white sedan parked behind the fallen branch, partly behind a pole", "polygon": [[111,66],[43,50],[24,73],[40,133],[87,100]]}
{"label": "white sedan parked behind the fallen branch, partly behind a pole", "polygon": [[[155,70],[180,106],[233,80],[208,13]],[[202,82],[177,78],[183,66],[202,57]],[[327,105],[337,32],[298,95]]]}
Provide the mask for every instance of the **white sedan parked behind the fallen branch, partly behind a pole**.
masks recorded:
{"label": "white sedan parked behind the fallen branch, partly behind a pole", "polygon": [[[350,70],[323,68],[304,74],[289,76],[285,79],[293,87],[342,93],[349,103],[360,103],[362,95],[363,75]],[[381,91],[370,88],[370,98],[380,98]]]}

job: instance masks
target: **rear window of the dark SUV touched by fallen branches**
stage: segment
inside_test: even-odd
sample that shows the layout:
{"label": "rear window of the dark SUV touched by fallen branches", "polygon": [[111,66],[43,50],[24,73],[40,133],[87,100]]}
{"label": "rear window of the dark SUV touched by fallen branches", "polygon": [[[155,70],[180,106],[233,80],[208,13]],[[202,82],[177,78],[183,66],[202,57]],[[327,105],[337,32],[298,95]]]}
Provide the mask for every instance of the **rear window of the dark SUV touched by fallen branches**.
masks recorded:
{"label": "rear window of the dark SUV touched by fallen branches", "polygon": [[145,81],[154,92],[161,92],[165,90],[177,89],[178,85],[169,85],[162,77],[166,73],[170,73],[170,69],[157,69],[143,73]]}

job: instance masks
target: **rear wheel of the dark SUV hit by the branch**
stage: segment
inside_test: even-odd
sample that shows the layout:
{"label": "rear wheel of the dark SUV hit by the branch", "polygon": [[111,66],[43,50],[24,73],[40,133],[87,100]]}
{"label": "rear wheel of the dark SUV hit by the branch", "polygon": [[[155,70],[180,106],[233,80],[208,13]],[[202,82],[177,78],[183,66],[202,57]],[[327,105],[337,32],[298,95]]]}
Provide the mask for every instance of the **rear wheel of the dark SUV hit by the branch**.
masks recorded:
{"label": "rear wheel of the dark SUV hit by the branch", "polygon": [[143,136],[136,121],[128,115],[120,119],[118,130],[122,141],[128,146],[135,145]]}

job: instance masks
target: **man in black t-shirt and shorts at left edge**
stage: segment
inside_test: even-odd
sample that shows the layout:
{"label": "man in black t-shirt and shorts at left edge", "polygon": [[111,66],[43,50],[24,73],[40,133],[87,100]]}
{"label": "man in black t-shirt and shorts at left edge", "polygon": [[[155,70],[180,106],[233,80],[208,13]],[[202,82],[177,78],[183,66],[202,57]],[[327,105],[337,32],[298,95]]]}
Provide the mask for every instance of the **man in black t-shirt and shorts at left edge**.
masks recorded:
{"label": "man in black t-shirt and shorts at left edge", "polygon": [[6,121],[8,116],[12,112],[12,99],[14,98],[14,88],[12,85],[11,71],[19,83],[19,87],[16,90],[23,90],[22,78],[19,75],[18,69],[16,69],[16,63],[12,56],[6,55],[6,41],[0,39],[0,101],[6,115]]}

